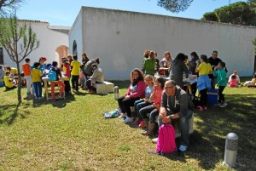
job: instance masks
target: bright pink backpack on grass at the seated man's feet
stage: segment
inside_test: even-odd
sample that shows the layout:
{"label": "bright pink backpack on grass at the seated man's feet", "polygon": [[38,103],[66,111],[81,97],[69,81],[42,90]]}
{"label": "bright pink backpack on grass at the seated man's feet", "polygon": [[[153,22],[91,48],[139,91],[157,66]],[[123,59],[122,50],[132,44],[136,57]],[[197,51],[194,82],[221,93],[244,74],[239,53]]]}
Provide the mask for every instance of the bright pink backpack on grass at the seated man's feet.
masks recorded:
{"label": "bright pink backpack on grass at the seated man's feet", "polygon": [[171,124],[163,124],[159,129],[156,152],[162,155],[175,150],[175,129]]}

